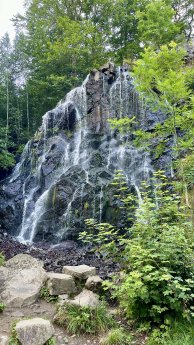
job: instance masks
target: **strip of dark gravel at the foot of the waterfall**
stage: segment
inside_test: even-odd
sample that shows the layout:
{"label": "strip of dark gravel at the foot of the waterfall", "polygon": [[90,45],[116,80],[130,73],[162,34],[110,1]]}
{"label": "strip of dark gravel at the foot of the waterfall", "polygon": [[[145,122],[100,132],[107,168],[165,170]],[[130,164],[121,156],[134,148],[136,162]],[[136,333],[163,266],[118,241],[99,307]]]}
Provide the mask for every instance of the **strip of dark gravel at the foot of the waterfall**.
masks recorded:
{"label": "strip of dark gravel at the foot of the waterfall", "polygon": [[119,266],[112,260],[103,259],[99,253],[79,247],[74,241],[65,241],[57,246],[46,243],[26,245],[1,231],[0,252],[5,255],[6,260],[20,253],[30,254],[44,262],[46,271],[61,272],[65,265],[85,264],[96,267],[98,274],[105,279],[119,270]]}

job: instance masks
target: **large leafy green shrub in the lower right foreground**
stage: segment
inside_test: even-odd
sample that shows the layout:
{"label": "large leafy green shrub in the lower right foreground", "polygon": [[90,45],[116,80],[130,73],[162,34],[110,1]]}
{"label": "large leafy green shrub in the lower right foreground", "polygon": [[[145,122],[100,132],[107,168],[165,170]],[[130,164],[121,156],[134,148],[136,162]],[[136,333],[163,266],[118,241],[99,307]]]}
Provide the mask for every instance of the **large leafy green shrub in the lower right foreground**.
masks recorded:
{"label": "large leafy green shrub in the lower right foreground", "polygon": [[[126,236],[107,243],[105,231],[100,234],[100,248],[111,250],[122,266],[107,289],[129,319],[151,324],[165,323],[171,315],[194,316],[192,224],[165,176],[160,172],[154,179],[154,193],[150,186],[142,186],[142,201]],[[125,198],[128,208],[129,198]]]}

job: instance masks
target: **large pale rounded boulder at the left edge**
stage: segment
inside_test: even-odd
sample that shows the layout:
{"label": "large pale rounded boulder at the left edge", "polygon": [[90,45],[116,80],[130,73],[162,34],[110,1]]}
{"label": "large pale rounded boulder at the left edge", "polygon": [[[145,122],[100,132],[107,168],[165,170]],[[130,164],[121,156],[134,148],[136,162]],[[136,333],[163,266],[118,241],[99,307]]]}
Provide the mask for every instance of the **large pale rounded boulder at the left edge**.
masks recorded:
{"label": "large pale rounded boulder at the left edge", "polygon": [[6,282],[0,297],[7,306],[22,307],[33,304],[47,274],[43,263],[27,254],[19,254],[8,260]]}

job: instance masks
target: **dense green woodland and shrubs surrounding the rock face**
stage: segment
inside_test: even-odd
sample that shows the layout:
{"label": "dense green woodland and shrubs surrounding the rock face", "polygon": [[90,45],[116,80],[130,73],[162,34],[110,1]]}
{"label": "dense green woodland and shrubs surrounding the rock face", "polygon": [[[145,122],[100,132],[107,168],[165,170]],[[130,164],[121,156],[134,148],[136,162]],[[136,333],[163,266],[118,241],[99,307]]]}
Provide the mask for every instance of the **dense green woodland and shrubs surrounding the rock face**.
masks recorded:
{"label": "dense green woodland and shrubs surrounding the rock face", "polygon": [[[25,14],[13,22],[14,41],[8,34],[0,40],[2,177],[42,115],[108,60],[127,63],[141,95],[167,114],[149,132],[134,126],[134,117],[110,121],[121,133],[133,132],[138,147],[157,138],[156,158],[173,138],[174,178],[167,181],[163,172],[155,172],[152,188],[142,186],[137,206],[119,172],[115,198],[130,229],[126,226],[123,234],[90,219],[80,239],[93,241],[99,253],[122,267],[119,279],[108,281],[105,289],[133,320],[132,329],[136,324],[138,332],[153,331],[147,344],[193,344],[193,0],[26,0]],[[117,342],[104,344],[133,344],[129,338],[120,334]]]}

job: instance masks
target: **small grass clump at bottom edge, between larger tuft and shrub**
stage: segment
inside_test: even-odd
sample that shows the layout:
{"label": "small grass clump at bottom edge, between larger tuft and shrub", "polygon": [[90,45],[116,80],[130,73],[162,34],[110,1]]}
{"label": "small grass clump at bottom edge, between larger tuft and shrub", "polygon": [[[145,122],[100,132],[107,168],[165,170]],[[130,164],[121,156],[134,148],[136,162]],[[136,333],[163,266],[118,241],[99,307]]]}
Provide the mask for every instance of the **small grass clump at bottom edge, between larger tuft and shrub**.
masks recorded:
{"label": "small grass clump at bottom edge, between larger tuft and shrub", "polygon": [[102,345],[130,345],[132,336],[127,334],[123,328],[115,328],[110,330],[100,343]]}

